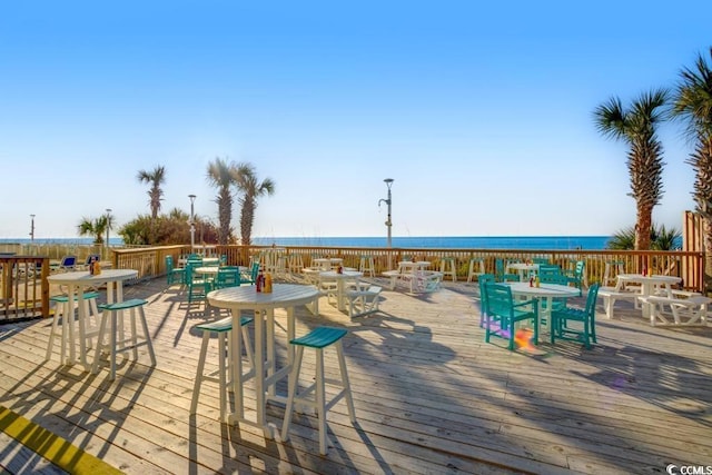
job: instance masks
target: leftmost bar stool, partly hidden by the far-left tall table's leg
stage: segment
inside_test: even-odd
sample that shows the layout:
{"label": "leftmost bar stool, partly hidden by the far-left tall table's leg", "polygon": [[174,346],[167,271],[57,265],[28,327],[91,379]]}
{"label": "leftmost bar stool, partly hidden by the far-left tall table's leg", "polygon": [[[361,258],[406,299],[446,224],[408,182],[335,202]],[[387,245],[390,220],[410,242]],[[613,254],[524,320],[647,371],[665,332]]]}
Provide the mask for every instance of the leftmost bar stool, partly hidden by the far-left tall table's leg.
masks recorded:
{"label": "leftmost bar stool, partly hidden by the far-left tall table's leg", "polygon": [[[97,297],[99,294],[96,291],[85,293],[82,298],[85,301],[85,315],[87,315],[87,321],[83,325],[83,338],[87,338],[89,343],[99,334],[99,308],[97,306]],[[55,346],[55,337],[59,336],[60,342],[60,360],[62,364],[75,360],[75,306],[69,304],[69,297],[66,295],[56,295],[50,297],[50,301],[55,303],[55,316],[52,317],[52,328],[49,333],[49,342],[47,344],[47,354],[44,360],[49,362]],[[79,300],[79,297],[75,295],[75,303]],[[59,320],[61,318],[61,330],[59,328]],[[92,321],[93,320],[93,321]],[[87,346],[91,347],[91,344]],[[67,349],[69,349],[69,359],[67,359]]]}

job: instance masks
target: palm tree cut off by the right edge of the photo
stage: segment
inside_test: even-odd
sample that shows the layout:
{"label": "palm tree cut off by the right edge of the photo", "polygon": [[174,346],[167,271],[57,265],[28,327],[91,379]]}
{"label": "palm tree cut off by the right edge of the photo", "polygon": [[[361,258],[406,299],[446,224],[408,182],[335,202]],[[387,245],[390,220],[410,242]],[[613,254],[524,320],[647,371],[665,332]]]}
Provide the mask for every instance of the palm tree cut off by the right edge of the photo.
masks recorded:
{"label": "palm tree cut off by the right edge of the photo", "polygon": [[694,150],[686,160],[695,172],[692,197],[702,217],[706,281],[712,271],[712,48],[710,62],[700,55],[695,68],[684,68],[673,97],[672,115],[686,122]]}

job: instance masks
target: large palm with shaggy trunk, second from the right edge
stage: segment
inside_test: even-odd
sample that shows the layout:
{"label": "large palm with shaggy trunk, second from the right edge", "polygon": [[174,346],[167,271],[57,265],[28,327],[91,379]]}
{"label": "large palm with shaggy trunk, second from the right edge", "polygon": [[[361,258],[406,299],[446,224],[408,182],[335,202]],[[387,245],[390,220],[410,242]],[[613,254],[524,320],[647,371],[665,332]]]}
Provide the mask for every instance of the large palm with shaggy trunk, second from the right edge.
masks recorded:
{"label": "large palm with shaggy trunk, second from the right edge", "polygon": [[663,120],[662,107],[668,101],[668,91],[659,89],[643,93],[625,110],[621,99],[611,98],[594,111],[599,131],[606,137],[623,139],[630,149],[627,171],[631,176],[631,192],[635,200],[635,249],[650,249],[653,207],[663,196],[663,147],[657,139],[656,126]]}

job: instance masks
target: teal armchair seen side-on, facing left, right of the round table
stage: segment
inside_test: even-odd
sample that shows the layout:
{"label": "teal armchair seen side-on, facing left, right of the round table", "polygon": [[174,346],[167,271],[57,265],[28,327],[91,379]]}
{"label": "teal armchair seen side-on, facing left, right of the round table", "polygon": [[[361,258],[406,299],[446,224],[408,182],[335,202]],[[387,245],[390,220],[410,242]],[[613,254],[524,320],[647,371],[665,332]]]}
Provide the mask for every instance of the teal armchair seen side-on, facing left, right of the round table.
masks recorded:
{"label": "teal armchair seen side-on, facing left, right of the round table", "polygon": [[[564,306],[552,311],[551,343],[556,338],[581,342],[586,349],[591,348],[591,342],[596,342],[596,299],[599,298],[600,284],[595,283],[589,288],[586,308]],[[576,321],[581,328],[574,328],[570,324]]]}

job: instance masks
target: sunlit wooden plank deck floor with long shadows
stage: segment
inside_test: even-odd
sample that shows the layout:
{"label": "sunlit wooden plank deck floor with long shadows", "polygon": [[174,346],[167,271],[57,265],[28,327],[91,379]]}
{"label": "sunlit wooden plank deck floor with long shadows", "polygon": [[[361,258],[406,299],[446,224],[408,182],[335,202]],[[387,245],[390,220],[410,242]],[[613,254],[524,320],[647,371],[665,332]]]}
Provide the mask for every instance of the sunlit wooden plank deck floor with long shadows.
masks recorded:
{"label": "sunlit wooden plank deck floor with long shadows", "polygon": [[[288,443],[268,441],[256,428],[220,424],[210,383],[191,417],[194,326],[204,306],[188,306],[164,279],[127,295],[150,303],[155,368],[142,352],[109,382],[106,367],[92,376],[60,366],[58,352],[43,362],[50,320],[2,325],[0,405],[128,474],[649,474],[671,463],[712,465],[711,327],[651,327],[630,308],[599,320],[592,350],[557,342],[526,354],[484,343],[474,284],[447,283],[427,297],[384,289],[382,313],[355,321],[325,300],[318,317],[298,308],[297,334],[320,324],[350,330],[358,424],[338,403],[322,457],[314,417],[295,415]],[[326,359],[336,375],[336,358]],[[283,413],[271,405],[268,416],[280,425]],[[2,446],[0,467],[48,469],[0,434]]]}

